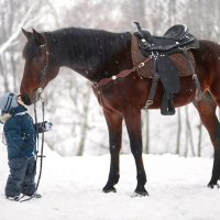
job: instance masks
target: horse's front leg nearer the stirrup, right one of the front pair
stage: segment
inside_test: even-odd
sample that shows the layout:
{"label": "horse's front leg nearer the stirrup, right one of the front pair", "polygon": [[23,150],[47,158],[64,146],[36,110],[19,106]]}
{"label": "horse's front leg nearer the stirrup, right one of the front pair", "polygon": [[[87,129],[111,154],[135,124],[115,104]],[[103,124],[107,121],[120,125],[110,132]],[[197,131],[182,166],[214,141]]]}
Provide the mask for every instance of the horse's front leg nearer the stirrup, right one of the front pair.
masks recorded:
{"label": "horse's front leg nearer the stirrup, right one of the front pair", "polygon": [[136,179],[138,185],[134,190],[136,195],[148,195],[144,185],[146,184],[146,174],[142,160],[142,131],[141,131],[141,110],[132,107],[124,114],[124,120],[129,133],[131,152],[135,160],[136,165]]}

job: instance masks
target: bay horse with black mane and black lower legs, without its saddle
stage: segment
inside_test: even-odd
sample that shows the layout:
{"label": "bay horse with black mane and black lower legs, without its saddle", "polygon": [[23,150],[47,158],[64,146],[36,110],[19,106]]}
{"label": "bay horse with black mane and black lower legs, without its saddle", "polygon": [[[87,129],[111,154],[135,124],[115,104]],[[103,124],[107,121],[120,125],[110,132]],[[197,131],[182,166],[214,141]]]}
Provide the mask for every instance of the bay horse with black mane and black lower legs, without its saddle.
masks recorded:
{"label": "bay horse with black mane and black lower legs, without its saddle", "polygon": [[[136,72],[125,77],[116,77],[124,69],[132,69],[130,32],[113,33],[105,30],[67,28],[52,32],[29,32],[23,48],[25,59],[20,92],[25,105],[32,105],[38,88],[44,89],[66,66],[90,80],[94,92],[103,109],[109,131],[110,172],[105,193],[116,193],[120,178],[119,160],[122,141],[122,121],[128,129],[131,152],[136,165],[136,188],[140,196],[145,189],[146,174],[142,160],[141,110],[150,94],[152,79],[140,77]],[[193,50],[196,73],[202,91],[201,100],[194,102],[200,119],[210,135],[215,156],[208,187],[218,186],[220,178],[220,123],[216,116],[220,106],[220,45],[211,41],[199,41]],[[107,79],[108,84],[96,87]],[[148,109],[162,105],[162,85],[158,84],[154,102]],[[180,91],[174,97],[174,107],[194,101],[195,85],[191,76],[180,77]]]}

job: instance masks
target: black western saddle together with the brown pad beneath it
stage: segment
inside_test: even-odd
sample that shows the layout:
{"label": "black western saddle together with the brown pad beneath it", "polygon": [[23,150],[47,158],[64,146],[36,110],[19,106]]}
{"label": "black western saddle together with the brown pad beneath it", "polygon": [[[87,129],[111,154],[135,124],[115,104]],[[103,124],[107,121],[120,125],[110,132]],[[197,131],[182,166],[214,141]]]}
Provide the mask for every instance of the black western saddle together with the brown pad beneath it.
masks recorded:
{"label": "black western saddle together with the brown pad beneath it", "polygon": [[141,77],[152,78],[152,87],[145,103],[147,109],[153,103],[157,82],[161,80],[164,89],[161,113],[175,113],[173,97],[180,90],[179,77],[193,75],[195,85],[200,91],[200,85],[195,73],[195,59],[190,50],[199,47],[197,38],[188,32],[186,25],[177,24],[169,28],[163,36],[154,36],[142,30],[134,22],[138,31],[132,35],[132,61],[138,66]]}

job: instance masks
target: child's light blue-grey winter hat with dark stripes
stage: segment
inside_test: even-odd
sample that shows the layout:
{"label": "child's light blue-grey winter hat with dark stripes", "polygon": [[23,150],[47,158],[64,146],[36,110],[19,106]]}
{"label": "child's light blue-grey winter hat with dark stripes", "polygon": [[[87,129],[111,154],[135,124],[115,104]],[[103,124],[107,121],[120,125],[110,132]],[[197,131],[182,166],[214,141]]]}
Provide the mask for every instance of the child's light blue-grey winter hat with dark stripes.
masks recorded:
{"label": "child's light blue-grey winter hat with dark stripes", "polygon": [[14,94],[7,92],[0,96],[0,109],[2,113],[9,112],[16,107],[19,107],[19,103]]}

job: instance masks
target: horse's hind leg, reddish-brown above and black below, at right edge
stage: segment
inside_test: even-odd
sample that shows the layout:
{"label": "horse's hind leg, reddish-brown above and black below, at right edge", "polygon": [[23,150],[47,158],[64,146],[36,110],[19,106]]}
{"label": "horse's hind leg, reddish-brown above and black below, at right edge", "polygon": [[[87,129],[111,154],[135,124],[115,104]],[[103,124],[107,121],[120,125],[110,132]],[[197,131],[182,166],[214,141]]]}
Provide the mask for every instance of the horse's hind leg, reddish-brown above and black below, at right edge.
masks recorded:
{"label": "horse's hind leg, reddish-brown above and black below, at right edge", "polygon": [[215,147],[212,176],[208,186],[213,188],[220,178],[220,123],[216,116],[217,105],[209,92],[202,96],[201,101],[195,105],[200,119],[209,132],[212,145]]}

